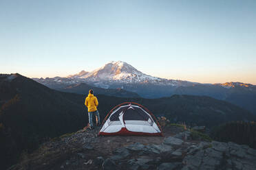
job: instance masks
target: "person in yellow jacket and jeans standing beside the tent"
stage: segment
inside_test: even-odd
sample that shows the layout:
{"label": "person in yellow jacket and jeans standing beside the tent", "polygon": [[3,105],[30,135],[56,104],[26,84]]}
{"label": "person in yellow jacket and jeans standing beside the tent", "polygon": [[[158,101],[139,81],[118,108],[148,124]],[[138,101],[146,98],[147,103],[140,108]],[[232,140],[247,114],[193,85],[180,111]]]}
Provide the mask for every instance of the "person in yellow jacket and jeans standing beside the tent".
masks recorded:
{"label": "person in yellow jacket and jeans standing beside the tent", "polygon": [[89,90],[89,94],[85,99],[85,106],[88,108],[88,117],[89,117],[89,128],[92,130],[94,124],[92,123],[92,114],[95,114],[96,125],[100,125],[100,114],[98,113],[98,99],[94,96],[94,91]]}

